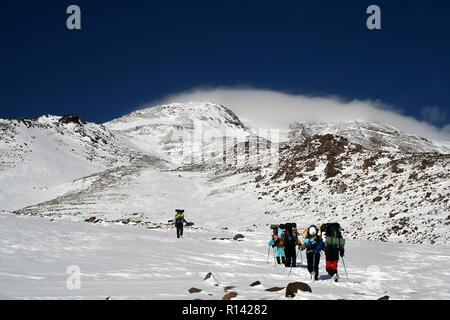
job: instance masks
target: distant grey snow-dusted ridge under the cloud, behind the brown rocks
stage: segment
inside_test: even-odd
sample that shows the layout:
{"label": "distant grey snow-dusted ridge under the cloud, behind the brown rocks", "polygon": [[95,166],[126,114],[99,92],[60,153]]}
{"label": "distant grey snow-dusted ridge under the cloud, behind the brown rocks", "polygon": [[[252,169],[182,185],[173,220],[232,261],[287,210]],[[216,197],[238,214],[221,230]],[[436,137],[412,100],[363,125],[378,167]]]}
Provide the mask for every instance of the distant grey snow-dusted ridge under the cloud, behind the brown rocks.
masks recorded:
{"label": "distant grey snow-dusted ridge under the cloud, behind the brown rocks", "polygon": [[303,142],[314,135],[325,134],[347,138],[365,149],[375,151],[450,154],[449,147],[374,121],[294,122],[290,126],[289,136],[291,141]]}

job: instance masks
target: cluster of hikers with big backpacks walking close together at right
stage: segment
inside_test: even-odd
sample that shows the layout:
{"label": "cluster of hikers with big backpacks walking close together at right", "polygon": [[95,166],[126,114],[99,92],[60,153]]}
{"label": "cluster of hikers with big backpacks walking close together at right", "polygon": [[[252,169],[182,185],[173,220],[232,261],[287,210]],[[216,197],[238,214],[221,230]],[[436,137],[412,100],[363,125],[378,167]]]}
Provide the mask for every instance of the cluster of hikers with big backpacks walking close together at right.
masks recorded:
{"label": "cluster of hikers with big backpacks walking close together at right", "polygon": [[[325,251],[326,270],[332,281],[338,281],[339,256],[344,257],[345,240],[342,237],[339,223],[326,223],[316,227],[311,225],[306,228],[303,243],[299,239],[297,225],[285,223],[271,225],[273,230],[269,246],[274,248],[274,255],[278,264],[295,268],[297,266],[297,254],[295,247],[300,251],[306,250],[306,260],[311,278],[319,279],[320,252]],[[269,248],[270,250],[270,248]]]}

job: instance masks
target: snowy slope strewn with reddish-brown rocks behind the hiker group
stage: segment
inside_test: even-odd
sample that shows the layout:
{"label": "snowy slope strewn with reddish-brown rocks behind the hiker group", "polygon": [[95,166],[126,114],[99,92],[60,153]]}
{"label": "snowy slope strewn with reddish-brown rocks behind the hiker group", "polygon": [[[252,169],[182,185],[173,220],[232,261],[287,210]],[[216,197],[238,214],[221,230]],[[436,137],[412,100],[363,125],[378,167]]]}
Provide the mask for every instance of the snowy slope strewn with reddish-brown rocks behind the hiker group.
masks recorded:
{"label": "snowy slope strewn with reddish-brown rocks behind the hiker group", "polygon": [[339,219],[354,239],[446,243],[439,226],[449,224],[449,165],[445,154],[367,150],[326,134],[292,139],[278,166],[248,171],[272,212]]}

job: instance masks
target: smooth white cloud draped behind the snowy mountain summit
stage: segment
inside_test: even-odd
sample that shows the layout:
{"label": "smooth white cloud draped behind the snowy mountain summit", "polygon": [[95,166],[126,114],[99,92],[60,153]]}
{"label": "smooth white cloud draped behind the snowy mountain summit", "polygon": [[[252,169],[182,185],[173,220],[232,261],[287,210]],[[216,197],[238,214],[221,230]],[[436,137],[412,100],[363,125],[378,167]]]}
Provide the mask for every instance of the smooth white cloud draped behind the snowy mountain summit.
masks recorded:
{"label": "smooth white cloud draped behind the snowy mountain summit", "polygon": [[[379,121],[430,140],[450,141],[450,132],[433,124],[399,113],[393,106],[373,100],[345,100],[337,96],[293,95],[249,88],[199,88],[154,101],[209,101],[222,104],[254,128],[286,130],[293,121]],[[447,125],[448,126],[448,125]]]}

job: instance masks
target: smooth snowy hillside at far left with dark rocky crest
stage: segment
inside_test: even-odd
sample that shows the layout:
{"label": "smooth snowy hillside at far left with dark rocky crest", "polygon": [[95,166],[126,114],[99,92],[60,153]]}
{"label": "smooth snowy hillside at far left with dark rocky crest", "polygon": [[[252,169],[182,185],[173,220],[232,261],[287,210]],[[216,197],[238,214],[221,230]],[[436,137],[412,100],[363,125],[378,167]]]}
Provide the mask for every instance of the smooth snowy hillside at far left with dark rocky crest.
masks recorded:
{"label": "smooth snowy hillside at far left with dark rocky crest", "polygon": [[0,119],[1,209],[50,199],[73,179],[143,156],[123,136],[76,115]]}

